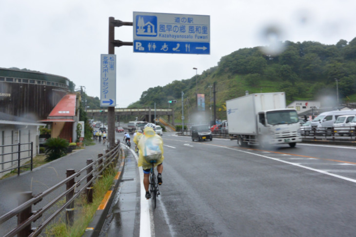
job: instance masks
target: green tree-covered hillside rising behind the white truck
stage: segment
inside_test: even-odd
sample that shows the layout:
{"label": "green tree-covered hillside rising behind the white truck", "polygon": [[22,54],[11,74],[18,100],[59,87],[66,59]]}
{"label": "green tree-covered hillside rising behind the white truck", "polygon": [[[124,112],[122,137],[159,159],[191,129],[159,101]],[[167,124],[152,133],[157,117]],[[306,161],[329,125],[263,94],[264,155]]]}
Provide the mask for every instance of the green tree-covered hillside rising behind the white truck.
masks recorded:
{"label": "green tree-covered hillside rising behind the white truck", "polygon": [[222,57],[218,66],[201,75],[149,88],[129,107],[152,107],[156,103],[158,108],[168,108],[167,101],[177,99],[178,103],[171,106],[175,109],[176,121],[179,121],[181,91],[184,92],[184,114],[196,110],[196,79],[198,93],[205,94],[208,112],[209,86],[216,82],[218,119],[226,118],[225,101],[243,96],[245,91],[250,94],[284,91],[288,104],[322,95],[336,97],[336,79],[339,100],[356,101],[356,38],[350,42],[339,40],[336,45],[312,41],[285,41],[283,45],[285,50],[277,56],[264,54],[260,47],[239,49]]}

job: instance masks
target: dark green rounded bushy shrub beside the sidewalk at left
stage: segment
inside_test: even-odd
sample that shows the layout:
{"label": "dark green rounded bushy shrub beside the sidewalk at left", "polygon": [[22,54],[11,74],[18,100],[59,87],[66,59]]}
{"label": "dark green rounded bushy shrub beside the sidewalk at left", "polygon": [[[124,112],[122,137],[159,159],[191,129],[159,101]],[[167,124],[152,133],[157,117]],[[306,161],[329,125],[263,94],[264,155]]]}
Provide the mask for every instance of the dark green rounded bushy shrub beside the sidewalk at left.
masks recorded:
{"label": "dark green rounded bushy shrub beside the sidewalk at left", "polygon": [[46,154],[47,154],[47,161],[58,159],[65,154],[67,154],[67,147],[69,142],[66,139],[62,138],[48,138],[46,140]]}

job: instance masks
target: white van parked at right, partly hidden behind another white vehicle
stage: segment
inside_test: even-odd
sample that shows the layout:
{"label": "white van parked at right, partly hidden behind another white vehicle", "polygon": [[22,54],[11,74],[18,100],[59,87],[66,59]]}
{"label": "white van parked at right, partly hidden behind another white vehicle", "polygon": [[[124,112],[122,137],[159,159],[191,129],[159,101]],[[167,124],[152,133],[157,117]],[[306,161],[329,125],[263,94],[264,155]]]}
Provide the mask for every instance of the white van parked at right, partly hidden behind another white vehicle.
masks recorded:
{"label": "white van parked at right, partly hidden behind another white vehicle", "polygon": [[316,129],[317,133],[327,132],[331,134],[337,117],[343,115],[356,115],[356,110],[335,110],[321,113],[313,119],[312,128]]}

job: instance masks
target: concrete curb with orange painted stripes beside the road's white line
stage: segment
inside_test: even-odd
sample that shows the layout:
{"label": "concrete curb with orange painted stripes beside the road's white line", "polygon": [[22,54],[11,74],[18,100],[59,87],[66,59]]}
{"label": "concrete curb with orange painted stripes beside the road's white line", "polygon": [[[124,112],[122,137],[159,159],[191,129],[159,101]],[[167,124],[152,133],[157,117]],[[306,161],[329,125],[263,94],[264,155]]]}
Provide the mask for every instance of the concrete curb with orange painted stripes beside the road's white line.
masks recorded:
{"label": "concrete curb with orange painted stripes beside the road's white line", "polygon": [[114,183],[111,186],[110,190],[106,193],[103,200],[101,201],[101,203],[105,203],[104,207],[101,210],[99,210],[99,208],[98,208],[98,210],[95,212],[93,220],[89,223],[89,225],[86,228],[85,233],[84,233],[84,235],[82,235],[82,237],[99,237],[100,231],[101,231],[102,226],[105,222],[105,219],[108,215],[111,204],[115,197],[115,193],[119,187],[119,183],[120,183],[122,175],[123,175],[123,169],[125,166],[125,152],[122,147],[120,147],[120,149],[121,149],[123,156],[122,156],[120,164],[117,165],[117,166],[119,166],[119,168],[117,169],[118,172],[117,172],[117,175],[115,176]]}

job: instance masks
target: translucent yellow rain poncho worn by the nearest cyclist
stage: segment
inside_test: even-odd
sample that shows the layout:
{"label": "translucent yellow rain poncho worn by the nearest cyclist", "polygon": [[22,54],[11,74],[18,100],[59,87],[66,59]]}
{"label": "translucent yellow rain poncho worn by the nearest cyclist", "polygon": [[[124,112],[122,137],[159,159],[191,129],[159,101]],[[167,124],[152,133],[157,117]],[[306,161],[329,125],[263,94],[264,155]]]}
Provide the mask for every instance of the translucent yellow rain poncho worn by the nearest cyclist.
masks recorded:
{"label": "translucent yellow rain poncho worn by the nearest cyclist", "polygon": [[[143,130],[144,135],[136,135],[138,140],[138,166],[142,166],[143,169],[149,169],[152,167],[151,160],[157,160],[155,167],[162,163],[163,157],[163,140],[153,130],[153,128],[146,127]],[[134,142],[135,142],[134,138]]]}

